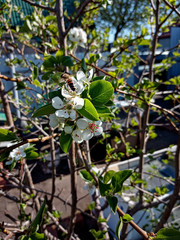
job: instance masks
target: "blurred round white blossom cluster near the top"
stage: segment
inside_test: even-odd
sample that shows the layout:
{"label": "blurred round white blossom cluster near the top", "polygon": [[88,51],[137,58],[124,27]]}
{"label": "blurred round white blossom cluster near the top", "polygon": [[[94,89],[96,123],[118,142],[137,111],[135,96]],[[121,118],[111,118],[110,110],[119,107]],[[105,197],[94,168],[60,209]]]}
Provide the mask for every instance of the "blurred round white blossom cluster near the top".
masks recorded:
{"label": "blurred round white blossom cluster near the top", "polygon": [[69,40],[84,45],[87,42],[87,34],[82,28],[73,27],[69,31]]}

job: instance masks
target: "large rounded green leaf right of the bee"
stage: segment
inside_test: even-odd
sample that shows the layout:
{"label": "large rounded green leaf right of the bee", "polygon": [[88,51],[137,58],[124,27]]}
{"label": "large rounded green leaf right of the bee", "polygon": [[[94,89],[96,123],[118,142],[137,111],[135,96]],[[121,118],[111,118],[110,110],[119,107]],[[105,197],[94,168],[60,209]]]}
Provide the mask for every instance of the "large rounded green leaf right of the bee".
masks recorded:
{"label": "large rounded green leaf right of the bee", "polygon": [[92,82],[89,89],[89,95],[92,99],[92,103],[97,106],[106,104],[110,100],[113,92],[114,89],[112,84],[105,80]]}

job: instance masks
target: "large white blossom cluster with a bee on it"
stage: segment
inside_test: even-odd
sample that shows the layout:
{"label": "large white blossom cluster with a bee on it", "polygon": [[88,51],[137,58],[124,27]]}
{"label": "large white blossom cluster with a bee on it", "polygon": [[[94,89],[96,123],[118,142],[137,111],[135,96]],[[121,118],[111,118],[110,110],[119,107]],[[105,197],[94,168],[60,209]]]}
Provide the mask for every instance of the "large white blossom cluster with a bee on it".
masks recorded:
{"label": "large white blossom cluster with a bee on it", "polygon": [[52,98],[52,106],[56,109],[54,114],[49,116],[49,125],[53,128],[60,127],[66,134],[71,134],[77,143],[89,140],[93,136],[101,135],[103,132],[101,121],[92,121],[78,112],[84,106],[84,99],[81,93],[85,86],[90,84],[93,71],[89,72],[89,77],[82,71],[78,71],[76,79],[72,77],[75,91],[72,91],[68,84],[61,88],[63,98],[56,96]]}

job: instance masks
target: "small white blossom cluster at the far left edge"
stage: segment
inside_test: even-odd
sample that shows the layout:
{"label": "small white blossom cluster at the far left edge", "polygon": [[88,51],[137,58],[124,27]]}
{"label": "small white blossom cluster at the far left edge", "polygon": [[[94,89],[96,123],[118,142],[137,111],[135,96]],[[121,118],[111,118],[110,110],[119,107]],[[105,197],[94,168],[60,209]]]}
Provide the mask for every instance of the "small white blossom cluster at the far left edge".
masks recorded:
{"label": "small white blossom cluster at the far left edge", "polygon": [[[16,143],[14,143],[16,144]],[[14,145],[13,144],[13,145]],[[12,144],[8,145],[11,146]],[[26,157],[26,153],[25,153],[25,150],[26,148],[28,148],[30,146],[29,143],[26,143],[20,147],[17,147],[15,149],[13,149],[11,152],[10,152],[10,155],[9,157],[11,158],[11,160],[7,161],[6,162],[6,165],[11,165],[14,161],[19,161],[21,158],[25,158]]]}

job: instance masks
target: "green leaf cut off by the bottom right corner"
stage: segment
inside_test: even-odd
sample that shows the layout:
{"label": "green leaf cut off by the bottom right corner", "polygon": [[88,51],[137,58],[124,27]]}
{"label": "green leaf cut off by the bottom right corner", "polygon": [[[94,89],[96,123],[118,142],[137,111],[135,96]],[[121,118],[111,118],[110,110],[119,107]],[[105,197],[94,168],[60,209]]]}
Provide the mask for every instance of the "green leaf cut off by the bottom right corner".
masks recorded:
{"label": "green leaf cut off by the bottom right corner", "polygon": [[162,228],[157,232],[157,236],[154,240],[179,240],[180,231],[172,228]]}

